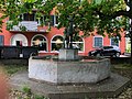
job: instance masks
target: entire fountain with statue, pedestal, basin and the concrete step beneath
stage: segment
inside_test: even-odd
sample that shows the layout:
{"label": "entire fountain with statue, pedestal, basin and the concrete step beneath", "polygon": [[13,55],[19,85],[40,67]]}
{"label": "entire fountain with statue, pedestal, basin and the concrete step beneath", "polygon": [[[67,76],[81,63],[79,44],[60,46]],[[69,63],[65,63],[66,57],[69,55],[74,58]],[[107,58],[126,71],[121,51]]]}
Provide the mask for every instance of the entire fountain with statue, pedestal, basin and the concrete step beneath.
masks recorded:
{"label": "entire fountain with statue, pedestal, basin and the concrete step beneath", "polygon": [[78,56],[78,50],[72,47],[73,21],[69,20],[69,28],[65,30],[66,44],[59,50],[58,56],[30,57],[29,78],[33,79],[30,85],[37,84],[34,90],[41,91],[50,99],[118,96],[129,79],[111,74],[108,58]]}

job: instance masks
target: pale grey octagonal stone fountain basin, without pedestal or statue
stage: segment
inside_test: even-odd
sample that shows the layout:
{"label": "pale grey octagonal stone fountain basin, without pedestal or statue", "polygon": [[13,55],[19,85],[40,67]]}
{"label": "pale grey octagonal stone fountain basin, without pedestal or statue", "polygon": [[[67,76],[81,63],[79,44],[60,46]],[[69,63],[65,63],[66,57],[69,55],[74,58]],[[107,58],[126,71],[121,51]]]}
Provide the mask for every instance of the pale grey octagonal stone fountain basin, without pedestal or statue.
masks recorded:
{"label": "pale grey octagonal stone fountain basin, without pedestal or statue", "polygon": [[110,77],[108,58],[58,61],[52,58],[29,59],[29,78],[52,84],[98,82]]}

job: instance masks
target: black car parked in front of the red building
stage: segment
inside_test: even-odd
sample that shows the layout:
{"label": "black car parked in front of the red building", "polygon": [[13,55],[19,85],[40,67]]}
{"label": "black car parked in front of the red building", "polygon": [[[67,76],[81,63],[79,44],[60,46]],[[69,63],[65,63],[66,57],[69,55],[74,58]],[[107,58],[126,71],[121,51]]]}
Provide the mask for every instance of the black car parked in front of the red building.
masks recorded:
{"label": "black car parked in front of the red building", "polygon": [[118,46],[102,46],[88,53],[89,56],[112,56],[119,57],[121,51]]}

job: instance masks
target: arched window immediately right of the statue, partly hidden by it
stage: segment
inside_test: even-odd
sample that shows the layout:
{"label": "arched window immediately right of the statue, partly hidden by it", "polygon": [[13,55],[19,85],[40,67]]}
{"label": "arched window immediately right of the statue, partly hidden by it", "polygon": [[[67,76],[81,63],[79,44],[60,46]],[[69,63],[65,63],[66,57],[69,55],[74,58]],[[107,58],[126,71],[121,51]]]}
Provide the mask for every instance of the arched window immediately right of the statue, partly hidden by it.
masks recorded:
{"label": "arched window immediately right of the statue, partly hidden by it", "polygon": [[79,51],[84,51],[84,41],[80,36],[77,36],[73,42],[73,47],[78,48]]}

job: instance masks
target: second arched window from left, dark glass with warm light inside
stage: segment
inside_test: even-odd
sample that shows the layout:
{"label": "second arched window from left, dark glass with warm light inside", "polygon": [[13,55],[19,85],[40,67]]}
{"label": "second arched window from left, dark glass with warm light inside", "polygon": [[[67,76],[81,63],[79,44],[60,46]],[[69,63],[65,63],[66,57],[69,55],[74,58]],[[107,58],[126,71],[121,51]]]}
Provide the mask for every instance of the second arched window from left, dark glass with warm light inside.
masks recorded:
{"label": "second arched window from left, dark glass with warm light inside", "polygon": [[47,40],[43,35],[36,35],[32,40],[32,46],[37,46],[40,51],[47,51]]}

